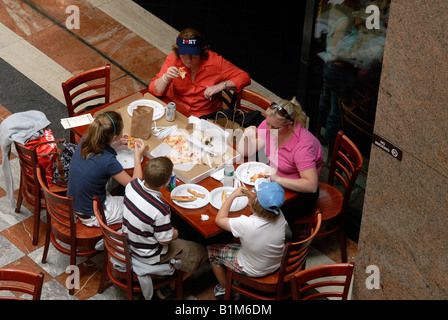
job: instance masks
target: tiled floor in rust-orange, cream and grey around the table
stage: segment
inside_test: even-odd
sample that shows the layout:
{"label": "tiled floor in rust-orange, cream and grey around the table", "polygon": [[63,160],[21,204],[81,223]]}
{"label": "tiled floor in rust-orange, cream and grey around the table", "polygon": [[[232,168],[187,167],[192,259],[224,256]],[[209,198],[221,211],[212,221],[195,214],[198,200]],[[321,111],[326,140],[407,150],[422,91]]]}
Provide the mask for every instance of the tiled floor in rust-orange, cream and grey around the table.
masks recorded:
{"label": "tiled floor in rust-orange, cream and grey around the table", "polygon": [[[64,102],[60,83],[72,74],[105,63],[112,65],[112,99],[141,90],[158,72],[170,52],[177,31],[135,5],[130,0],[71,1],[80,9],[79,30],[67,30],[63,0],[0,0],[0,57]],[[251,89],[271,99],[253,79]],[[0,121],[11,113],[0,105]],[[1,161],[1,158],[0,158]],[[19,182],[18,160],[11,156],[16,197]],[[0,267],[16,267],[45,274],[42,299],[125,299],[114,286],[97,293],[103,254],[78,259],[80,288],[68,294],[65,281],[69,264],[65,256],[50,247],[47,263],[42,264],[45,214],[43,212],[37,246],[31,243],[33,217],[24,204],[20,213],[7,202],[3,175],[0,175]],[[335,238],[315,241],[307,266],[337,262],[339,246]],[[348,240],[349,259],[356,260],[356,243]],[[185,299],[214,299],[216,280],[208,264],[184,286]],[[139,298],[139,297],[137,297]],[[140,297],[141,298],[141,297]]]}

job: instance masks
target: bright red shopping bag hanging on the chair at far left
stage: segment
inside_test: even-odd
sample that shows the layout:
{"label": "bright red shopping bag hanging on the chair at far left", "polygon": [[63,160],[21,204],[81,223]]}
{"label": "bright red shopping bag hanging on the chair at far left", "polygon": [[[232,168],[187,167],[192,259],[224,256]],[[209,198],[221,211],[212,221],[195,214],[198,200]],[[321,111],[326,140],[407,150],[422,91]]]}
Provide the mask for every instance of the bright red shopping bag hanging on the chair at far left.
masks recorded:
{"label": "bright red shopping bag hanging on the chair at far left", "polygon": [[[28,141],[25,146],[28,148],[33,148],[41,142],[54,141],[53,132],[50,129],[44,129],[44,135],[38,139]],[[56,143],[43,143],[36,146],[36,153],[39,164],[45,171],[45,177],[47,179],[48,186],[53,185],[53,173],[55,170],[56,163],[56,152],[58,151],[58,146]],[[48,154],[48,155],[43,155]]]}

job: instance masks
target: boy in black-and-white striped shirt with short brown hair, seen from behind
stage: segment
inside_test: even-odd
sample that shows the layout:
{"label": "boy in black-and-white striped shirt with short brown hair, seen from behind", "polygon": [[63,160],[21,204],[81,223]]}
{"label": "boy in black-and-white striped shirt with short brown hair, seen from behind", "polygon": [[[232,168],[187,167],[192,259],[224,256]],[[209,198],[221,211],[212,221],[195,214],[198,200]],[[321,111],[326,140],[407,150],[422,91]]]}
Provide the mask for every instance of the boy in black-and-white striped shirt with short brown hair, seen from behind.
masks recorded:
{"label": "boy in black-and-white striped shirt with short brown hair, seen from behind", "polygon": [[144,180],[134,179],[126,186],[123,232],[128,235],[134,258],[149,265],[180,260],[176,267],[185,272],[186,279],[207,260],[207,250],[193,241],[179,239],[178,230],[171,225],[170,209],[162,201],[160,190],[169,183],[172,171],[170,159],[155,158],[146,164]]}

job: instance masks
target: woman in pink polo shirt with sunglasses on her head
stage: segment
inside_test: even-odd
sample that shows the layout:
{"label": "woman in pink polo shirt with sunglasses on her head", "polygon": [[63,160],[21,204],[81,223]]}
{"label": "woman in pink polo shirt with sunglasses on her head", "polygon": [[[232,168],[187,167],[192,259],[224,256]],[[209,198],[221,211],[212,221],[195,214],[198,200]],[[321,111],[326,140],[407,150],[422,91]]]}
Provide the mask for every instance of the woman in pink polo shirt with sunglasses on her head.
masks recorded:
{"label": "woman in pink polo shirt with sunglasses on her head", "polygon": [[266,114],[258,128],[244,131],[238,151],[251,156],[265,148],[271,167],[266,174],[271,181],[299,193],[295,201],[282,207],[286,220],[292,222],[300,213],[313,210],[319,197],[322,146],[305,128],[306,115],[295,98],[273,102]]}

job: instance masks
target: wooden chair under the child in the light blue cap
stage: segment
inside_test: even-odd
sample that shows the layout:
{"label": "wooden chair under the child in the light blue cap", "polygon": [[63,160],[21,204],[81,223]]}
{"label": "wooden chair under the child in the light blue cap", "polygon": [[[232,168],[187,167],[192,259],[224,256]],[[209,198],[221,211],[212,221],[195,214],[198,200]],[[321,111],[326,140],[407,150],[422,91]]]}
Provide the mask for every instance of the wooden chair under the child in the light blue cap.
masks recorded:
{"label": "wooden chair under the child in the light blue cap", "polygon": [[319,231],[322,215],[318,210],[310,225],[309,236],[299,242],[288,242],[278,271],[265,277],[254,278],[227,269],[225,300],[229,300],[232,291],[237,291],[251,299],[283,300],[291,298],[291,277],[306,263],[311,243]]}

